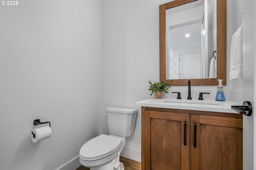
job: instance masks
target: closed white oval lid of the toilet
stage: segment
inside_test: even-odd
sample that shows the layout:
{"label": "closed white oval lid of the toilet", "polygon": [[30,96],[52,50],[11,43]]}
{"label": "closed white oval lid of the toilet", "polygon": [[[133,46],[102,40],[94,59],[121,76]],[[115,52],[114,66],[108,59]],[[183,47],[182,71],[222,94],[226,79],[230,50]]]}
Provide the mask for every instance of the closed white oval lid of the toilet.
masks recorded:
{"label": "closed white oval lid of the toilet", "polygon": [[79,154],[84,160],[97,160],[114,153],[121,144],[122,139],[119,137],[100,135],[86,142]]}

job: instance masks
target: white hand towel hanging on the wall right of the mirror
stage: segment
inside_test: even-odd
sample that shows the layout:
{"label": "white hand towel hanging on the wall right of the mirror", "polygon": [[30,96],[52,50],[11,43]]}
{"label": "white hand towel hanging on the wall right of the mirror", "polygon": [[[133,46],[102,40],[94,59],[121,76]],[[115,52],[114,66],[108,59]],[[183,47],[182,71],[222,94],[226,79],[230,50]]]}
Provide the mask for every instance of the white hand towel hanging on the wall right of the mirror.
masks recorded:
{"label": "white hand towel hanging on the wall right of the mirror", "polygon": [[243,25],[234,33],[230,52],[230,80],[243,78]]}

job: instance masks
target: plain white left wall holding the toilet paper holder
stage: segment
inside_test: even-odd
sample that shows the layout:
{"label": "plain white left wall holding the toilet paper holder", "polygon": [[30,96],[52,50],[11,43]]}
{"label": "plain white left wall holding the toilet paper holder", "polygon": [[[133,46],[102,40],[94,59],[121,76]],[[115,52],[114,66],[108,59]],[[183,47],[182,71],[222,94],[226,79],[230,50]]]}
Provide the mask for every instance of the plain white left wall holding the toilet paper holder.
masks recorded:
{"label": "plain white left wall holding the toilet paper holder", "polygon": [[[19,1],[0,21],[0,169],[57,169],[100,133],[101,1]],[[34,119],[50,138],[32,143]]]}

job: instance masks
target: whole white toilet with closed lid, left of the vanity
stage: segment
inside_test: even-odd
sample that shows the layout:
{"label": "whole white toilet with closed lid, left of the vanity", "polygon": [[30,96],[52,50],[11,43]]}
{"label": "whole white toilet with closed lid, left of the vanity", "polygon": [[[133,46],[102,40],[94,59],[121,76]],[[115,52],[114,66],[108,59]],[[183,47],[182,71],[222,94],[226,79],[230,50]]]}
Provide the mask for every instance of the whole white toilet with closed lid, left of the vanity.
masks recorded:
{"label": "whole white toilet with closed lid, left of the vanity", "polygon": [[86,142],[79,152],[80,163],[90,170],[124,170],[119,157],[125,138],[133,133],[137,113],[137,109],[107,107],[110,135],[100,135]]}

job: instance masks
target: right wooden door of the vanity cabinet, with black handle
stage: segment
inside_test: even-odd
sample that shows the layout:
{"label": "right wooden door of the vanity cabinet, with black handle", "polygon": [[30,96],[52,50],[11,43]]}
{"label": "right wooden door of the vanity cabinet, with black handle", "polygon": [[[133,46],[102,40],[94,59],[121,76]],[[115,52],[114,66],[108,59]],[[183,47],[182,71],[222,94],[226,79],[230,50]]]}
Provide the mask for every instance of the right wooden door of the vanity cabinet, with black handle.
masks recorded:
{"label": "right wooden door of the vanity cabinet, with black handle", "polygon": [[242,119],[190,116],[190,169],[242,170]]}

